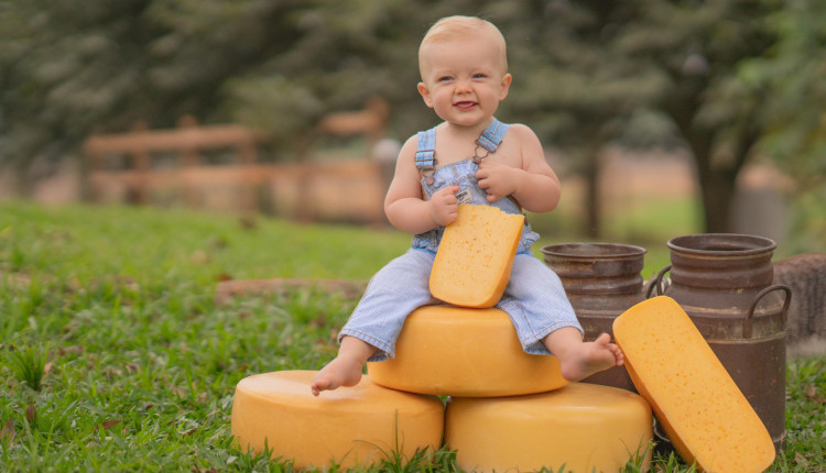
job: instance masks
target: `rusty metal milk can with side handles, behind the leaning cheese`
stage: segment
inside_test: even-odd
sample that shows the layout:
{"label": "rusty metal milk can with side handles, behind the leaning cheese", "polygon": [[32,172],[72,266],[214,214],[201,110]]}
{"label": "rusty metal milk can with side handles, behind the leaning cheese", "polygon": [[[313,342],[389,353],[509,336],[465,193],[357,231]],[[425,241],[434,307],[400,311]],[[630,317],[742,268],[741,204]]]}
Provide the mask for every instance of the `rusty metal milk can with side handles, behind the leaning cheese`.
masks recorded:
{"label": "rusty metal milk can with side handles, behind the leaning cheese", "polygon": [[[667,242],[671,265],[654,290],[676,300],[765,424],[775,449],[785,440],[786,314],[792,292],[772,284],[774,241],[704,233]],[[664,279],[671,273],[671,280]],[[661,429],[657,437],[666,440]]]}

